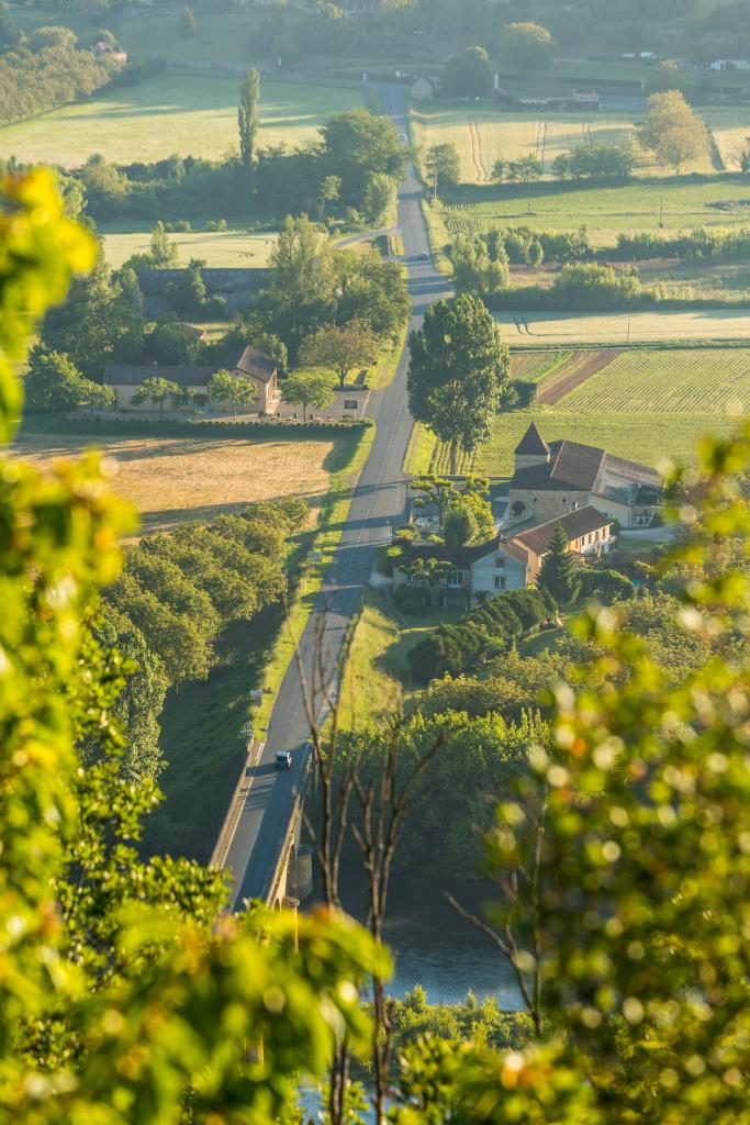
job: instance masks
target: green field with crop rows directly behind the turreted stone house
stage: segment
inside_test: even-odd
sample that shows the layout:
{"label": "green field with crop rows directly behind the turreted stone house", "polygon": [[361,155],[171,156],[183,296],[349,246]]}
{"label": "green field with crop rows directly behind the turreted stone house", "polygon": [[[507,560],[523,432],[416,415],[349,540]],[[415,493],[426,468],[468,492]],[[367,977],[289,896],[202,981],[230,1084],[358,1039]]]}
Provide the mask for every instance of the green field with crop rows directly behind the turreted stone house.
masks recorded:
{"label": "green field with crop rows directly behind the turreted stone house", "polygon": [[[569,352],[557,354],[570,357]],[[537,357],[539,367],[543,361]],[[545,379],[555,379],[557,370]],[[748,411],[750,350],[624,352],[555,406],[535,405],[500,415],[488,444],[473,459],[463,458],[459,468],[509,476],[513,450],[531,422],[548,441],[568,438],[654,467],[666,460],[692,465],[702,438],[728,436]],[[418,426],[406,468],[415,474],[446,471],[448,451]]]}

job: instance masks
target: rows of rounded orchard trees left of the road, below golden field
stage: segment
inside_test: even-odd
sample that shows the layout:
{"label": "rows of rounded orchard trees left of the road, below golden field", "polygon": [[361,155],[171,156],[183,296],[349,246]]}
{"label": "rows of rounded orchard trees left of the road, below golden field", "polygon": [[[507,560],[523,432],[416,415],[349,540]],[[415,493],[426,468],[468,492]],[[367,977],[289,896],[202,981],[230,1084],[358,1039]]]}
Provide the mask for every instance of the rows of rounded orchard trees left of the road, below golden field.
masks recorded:
{"label": "rows of rounded orchard trees left of the road, below golden field", "polygon": [[186,523],[126,549],[123,574],[105,592],[97,636],[138,665],[117,709],[129,776],[154,778],[163,765],[159,716],[166,688],[205,680],[216,666],[220,632],[284,595],[290,539],[307,518],[305,501],[289,497]]}

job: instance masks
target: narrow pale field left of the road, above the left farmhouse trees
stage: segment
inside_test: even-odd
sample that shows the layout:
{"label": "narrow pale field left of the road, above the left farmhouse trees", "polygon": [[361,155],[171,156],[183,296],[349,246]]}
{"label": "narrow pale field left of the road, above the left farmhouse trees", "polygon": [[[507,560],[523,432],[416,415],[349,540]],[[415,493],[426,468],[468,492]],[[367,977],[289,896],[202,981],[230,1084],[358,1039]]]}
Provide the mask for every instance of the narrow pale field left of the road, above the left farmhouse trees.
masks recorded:
{"label": "narrow pale field left of the road, above the left farmhouse trees", "polygon": [[[150,230],[114,231],[102,224],[99,233],[105,237],[105,254],[114,269],[118,269],[132,254],[148,250]],[[187,266],[191,258],[200,258],[207,266],[240,268],[268,266],[277,236],[277,232],[271,230],[229,230],[189,231],[170,234],[169,237],[180,250],[182,266]]]}

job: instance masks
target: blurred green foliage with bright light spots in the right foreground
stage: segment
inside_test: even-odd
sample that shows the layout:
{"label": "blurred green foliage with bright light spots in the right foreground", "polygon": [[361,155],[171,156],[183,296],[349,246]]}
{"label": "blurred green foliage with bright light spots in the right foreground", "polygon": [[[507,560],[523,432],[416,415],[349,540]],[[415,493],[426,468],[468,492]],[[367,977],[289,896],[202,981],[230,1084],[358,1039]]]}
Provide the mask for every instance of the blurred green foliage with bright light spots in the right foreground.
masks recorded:
{"label": "blurred green foliage with bright light spots in the right foreground", "polygon": [[[576,634],[596,655],[555,692],[551,741],[488,838],[491,870],[506,886],[521,879],[494,921],[523,930],[512,957],[541,988],[540,1050],[560,1045],[544,1090],[553,1097],[563,1078],[586,1090],[579,1119],[747,1117],[749,586],[744,559],[721,557],[746,554],[737,474],[749,459],[747,434],[704,444],[705,500],[663,564],[684,573],[677,628],[707,655],[675,680],[617,612],[581,618]],[[625,604],[645,621],[640,601]],[[516,1060],[525,1120],[533,1068]]]}

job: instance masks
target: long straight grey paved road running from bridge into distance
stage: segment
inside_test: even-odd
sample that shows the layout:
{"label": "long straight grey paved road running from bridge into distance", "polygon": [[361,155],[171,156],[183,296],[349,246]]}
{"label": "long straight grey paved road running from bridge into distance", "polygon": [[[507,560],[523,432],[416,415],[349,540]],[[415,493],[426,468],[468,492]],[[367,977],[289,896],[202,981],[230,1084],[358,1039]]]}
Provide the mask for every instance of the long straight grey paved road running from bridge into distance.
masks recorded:
{"label": "long straight grey paved road running from bridge into distance", "polygon": [[[399,133],[407,132],[403,90],[381,87],[386,111]],[[399,192],[398,225],[404,237],[412,291],[412,327],[422,323],[432,302],[450,296],[445,278],[437,273],[430,252],[427,230],[419,206],[422,188],[413,168]],[[316,610],[300,642],[300,655],[308,681],[316,649],[327,680],[334,678],[338,655],[349,623],[359,609],[380,548],[390,541],[407,503],[407,479],[401,471],[412,432],[407,407],[405,351],[396,378],[386,390],[373,394],[368,414],[377,424],[372,450],[354,489],[341,544],[317,600]],[[315,701],[315,711],[324,700]],[[233,902],[264,898],[270,889],[280,849],[287,835],[297,788],[305,766],[304,744],[309,738],[302,690],[296,662],[281,684],[262,759],[252,770],[252,784],[245,799],[229,847],[227,867],[233,875]],[[277,773],[277,750],[291,750],[293,766]]]}

